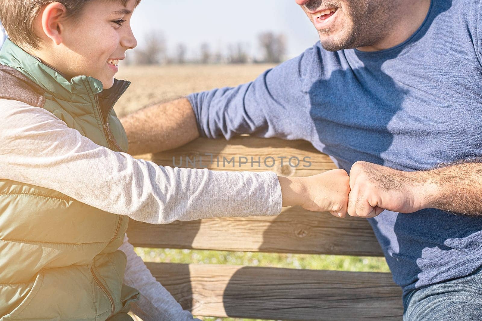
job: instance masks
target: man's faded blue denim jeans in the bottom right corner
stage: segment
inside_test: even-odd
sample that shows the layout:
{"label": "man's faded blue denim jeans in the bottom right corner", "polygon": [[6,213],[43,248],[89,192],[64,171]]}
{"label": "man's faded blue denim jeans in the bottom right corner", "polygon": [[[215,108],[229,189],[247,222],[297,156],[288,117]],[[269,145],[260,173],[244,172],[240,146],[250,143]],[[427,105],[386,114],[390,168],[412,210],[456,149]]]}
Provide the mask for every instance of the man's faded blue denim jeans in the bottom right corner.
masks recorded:
{"label": "man's faded blue denim jeans in the bottom right corner", "polygon": [[481,321],[482,270],[409,292],[403,321]]}

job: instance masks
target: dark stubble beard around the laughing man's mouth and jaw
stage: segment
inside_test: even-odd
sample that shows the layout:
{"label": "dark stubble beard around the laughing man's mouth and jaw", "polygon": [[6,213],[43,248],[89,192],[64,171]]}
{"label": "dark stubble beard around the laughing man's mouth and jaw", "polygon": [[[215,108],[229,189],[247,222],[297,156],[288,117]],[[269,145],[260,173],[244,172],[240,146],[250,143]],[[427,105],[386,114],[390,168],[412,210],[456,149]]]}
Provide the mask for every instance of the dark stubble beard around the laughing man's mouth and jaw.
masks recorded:
{"label": "dark stubble beard around the laughing man's mouth and jaw", "polygon": [[[331,30],[318,30],[321,46],[327,51],[339,51],[373,46],[387,37],[394,21],[395,1],[390,0],[346,0],[351,26],[343,26],[334,40],[323,40]],[[345,9],[346,10],[346,9]],[[349,28],[349,29],[347,29]]]}

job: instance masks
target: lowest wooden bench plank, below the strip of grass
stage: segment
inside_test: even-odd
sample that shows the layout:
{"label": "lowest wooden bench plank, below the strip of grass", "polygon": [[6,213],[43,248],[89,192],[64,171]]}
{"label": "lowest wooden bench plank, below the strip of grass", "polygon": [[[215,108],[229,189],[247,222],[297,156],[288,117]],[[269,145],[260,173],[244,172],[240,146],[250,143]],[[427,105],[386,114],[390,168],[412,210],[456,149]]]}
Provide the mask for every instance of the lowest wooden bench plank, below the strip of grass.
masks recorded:
{"label": "lowest wooden bench plank, below the strip of grass", "polygon": [[147,263],[194,315],[293,321],[402,320],[390,273]]}

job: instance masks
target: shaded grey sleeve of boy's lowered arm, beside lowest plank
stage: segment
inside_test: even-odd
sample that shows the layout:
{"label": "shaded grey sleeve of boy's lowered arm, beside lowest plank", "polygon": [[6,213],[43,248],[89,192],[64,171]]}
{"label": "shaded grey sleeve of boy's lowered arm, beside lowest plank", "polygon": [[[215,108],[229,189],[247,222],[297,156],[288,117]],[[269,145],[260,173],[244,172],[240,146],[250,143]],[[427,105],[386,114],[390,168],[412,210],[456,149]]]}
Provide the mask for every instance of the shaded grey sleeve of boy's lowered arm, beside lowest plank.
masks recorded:
{"label": "shaded grey sleeve of boy's lowered arm, beside lowest plank", "polygon": [[189,311],[184,310],[174,297],[152,276],[146,264],[135,252],[124,235],[124,243],[119,249],[127,257],[124,283],[137,289],[139,301],[131,303],[131,310],[143,321],[199,321]]}

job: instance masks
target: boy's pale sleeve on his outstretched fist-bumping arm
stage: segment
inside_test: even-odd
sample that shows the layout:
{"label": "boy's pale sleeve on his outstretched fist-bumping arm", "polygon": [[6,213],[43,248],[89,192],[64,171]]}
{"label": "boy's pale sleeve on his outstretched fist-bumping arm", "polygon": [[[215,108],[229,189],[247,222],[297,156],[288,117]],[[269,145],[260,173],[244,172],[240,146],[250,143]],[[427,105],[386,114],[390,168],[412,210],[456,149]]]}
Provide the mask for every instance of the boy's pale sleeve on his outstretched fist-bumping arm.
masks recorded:
{"label": "boy's pale sleeve on his outstretched fist-bumping arm", "polygon": [[0,100],[0,177],[152,224],[281,213],[274,172],[160,167],[82,136],[45,109]]}

